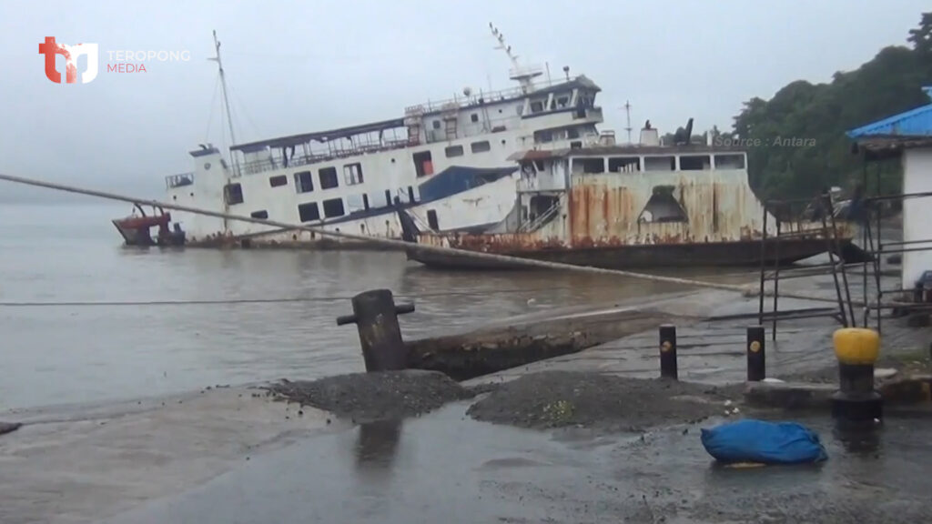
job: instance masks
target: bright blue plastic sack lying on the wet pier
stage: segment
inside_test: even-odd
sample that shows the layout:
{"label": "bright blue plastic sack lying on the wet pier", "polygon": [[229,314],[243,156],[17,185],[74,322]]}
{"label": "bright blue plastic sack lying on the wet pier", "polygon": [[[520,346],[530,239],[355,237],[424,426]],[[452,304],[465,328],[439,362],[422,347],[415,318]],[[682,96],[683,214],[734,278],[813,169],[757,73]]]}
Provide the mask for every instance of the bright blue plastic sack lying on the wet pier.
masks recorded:
{"label": "bright blue plastic sack lying on the wet pier", "polygon": [[719,462],[799,464],[829,458],[818,434],[796,422],[747,419],[704,428],[702,445]]}

